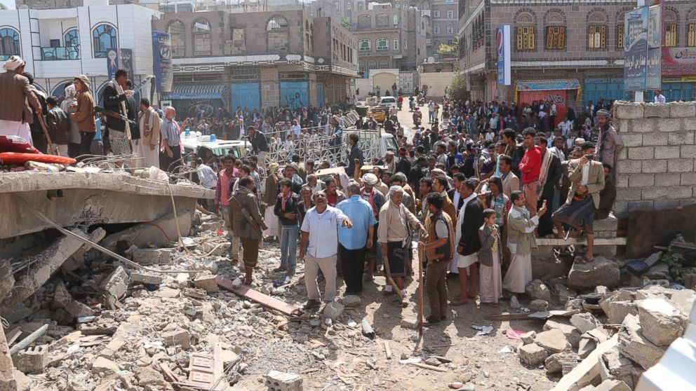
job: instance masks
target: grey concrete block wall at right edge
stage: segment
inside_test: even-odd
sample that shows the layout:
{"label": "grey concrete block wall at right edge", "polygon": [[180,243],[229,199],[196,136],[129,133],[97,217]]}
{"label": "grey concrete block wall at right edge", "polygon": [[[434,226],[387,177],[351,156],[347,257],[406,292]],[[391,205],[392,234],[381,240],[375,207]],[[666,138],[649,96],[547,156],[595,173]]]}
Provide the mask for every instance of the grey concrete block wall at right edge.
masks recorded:
{"label": "grey concrete block wall at right edge", "polygon": [[617,216],[696,203],[696,102],[617,102],[615,125]]}

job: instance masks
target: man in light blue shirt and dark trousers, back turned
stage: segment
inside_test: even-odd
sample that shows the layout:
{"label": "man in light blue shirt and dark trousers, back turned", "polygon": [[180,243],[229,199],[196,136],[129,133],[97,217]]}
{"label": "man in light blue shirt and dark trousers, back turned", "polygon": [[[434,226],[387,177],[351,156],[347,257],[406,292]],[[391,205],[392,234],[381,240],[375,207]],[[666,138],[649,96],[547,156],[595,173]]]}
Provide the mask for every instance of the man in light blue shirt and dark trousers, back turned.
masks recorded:
{"label": "man in light blue shirt and dark trousers, back turned", "polygon": [[338,254],[346,283],[346,295],[359,294],[363,290],[363,268],[367,249],[373,245],[375,214],[373,207],[360,195],[360,186],[348,185],[348,199],[336,205],[345,214],[353,228],[338,227]]}

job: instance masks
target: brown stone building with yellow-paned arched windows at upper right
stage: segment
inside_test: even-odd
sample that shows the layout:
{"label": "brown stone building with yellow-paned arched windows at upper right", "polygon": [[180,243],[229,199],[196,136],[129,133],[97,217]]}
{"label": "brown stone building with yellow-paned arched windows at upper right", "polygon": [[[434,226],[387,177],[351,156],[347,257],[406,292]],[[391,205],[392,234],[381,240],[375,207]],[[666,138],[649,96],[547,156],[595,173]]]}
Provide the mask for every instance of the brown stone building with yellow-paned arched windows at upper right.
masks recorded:
{"label": "brown stone building with yellow-paned arched windows at upper right", "polygon": [[[472,97],[484,101],[551,99],[577,109],[589,100],[628,99],[623,83],[624,13],[635,6],[631,0],[460,0],[460,74],[466,76]],[[502,25],[510,26],[511,85],[496,82],[497,27]],[[664,46],[696,46],[692,1],[667,1],[664,25]],[[692,81],[662,81],[669,100],[693,99]]]}

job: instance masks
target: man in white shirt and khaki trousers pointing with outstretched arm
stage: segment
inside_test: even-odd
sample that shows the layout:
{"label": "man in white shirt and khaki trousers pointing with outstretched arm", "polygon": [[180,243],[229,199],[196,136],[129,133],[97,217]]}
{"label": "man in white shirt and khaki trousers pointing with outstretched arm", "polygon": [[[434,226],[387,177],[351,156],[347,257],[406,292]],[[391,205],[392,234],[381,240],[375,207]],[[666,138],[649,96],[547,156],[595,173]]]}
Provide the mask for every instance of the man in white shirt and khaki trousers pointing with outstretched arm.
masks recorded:
{"label": "man in white shirt and khaki trousers pointing with outstretched arm", "polygon": [[[338,252],[338,225],[352,228],[350,219],[335,207],[326,203],[326,193],[314,193],[314,205],[302,221],[300,259],[304,261],[304,285],[307,287],[307,310],[318,308],[319,284],[316,276],[319,269],[326,278],[324,301],[336,299],[336,253]],[[309,247],[307,247],[309,243]]]}

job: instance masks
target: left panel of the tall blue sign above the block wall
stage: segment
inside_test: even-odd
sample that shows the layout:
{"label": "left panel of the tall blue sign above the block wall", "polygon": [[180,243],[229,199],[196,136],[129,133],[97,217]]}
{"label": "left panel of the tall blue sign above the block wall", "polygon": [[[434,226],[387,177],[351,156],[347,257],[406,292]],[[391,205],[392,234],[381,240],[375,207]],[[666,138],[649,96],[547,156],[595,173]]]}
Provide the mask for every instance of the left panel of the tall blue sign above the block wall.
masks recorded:
{"label": "left panel of the tall blue sign above the block wall", "polygon": [[648,64],[648,7],[626,12],[624,36],[624,90],[643,91]]}

